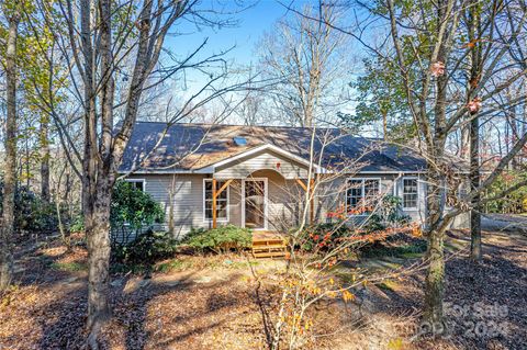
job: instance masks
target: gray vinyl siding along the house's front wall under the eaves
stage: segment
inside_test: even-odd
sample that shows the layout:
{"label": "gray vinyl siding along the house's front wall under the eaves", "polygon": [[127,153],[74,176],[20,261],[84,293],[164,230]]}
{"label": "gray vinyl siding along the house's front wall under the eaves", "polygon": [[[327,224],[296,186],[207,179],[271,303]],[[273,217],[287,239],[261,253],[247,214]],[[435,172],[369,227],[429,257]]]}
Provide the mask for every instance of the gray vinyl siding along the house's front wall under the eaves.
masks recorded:
{"label": "gray vinyl siding along the house's front wall under the eaves", "polygon": [[[267,157],[267,159],[272,159]],[[272,159],[276,160],[276,159]],[[283,165],[284,162],[282,162]],[[240,176],[238,170],[234,171]],[[223,176],[226,172],[222,173]],[[305,192],[293,179],[285,179],[276,170],[262,169],[251,171],[254,178],[268,179],[268,229],[287,230],[298,226],[303,217],[306,203]],[[168,228],[170,216],[170,193],[173,188],[173,223],[175,236],[181,238],[191,228],[211,228],[212,223],[204,219],[203,215],[203,180],[210,178],[206,174],[137,174],[131,179],[144,179],[145,191],[155,201],[160,203],[166,212],[167,223],[160,229]],[[355,177],[343,176],[337,179],[324,182],[319,185],[315,197],[316,222],[327,222],[327,213],[339,206],[346,205],[346,181],[350,178],[380,179],[381,190],[384,193],[402,195],[402,179],[396,174],[358,174]],[[172,187],[173,181],[173,187]],[[303,179],[305,181],[305,179]],[[235,179],[228,187],[228,223],[243,226],[243,195],[242,180]],[[418,208],[404,211],[413,221],[423,223],[426,210],[426,183],[418,179]],[[310,214],[306,212],[305,219]],[[360,215],[352,218],[354,222],[361,221]],[[466,225],[467,217],[460,217],[453,227]],[[226,225],[227,222],[220,222],[218,225]]]}

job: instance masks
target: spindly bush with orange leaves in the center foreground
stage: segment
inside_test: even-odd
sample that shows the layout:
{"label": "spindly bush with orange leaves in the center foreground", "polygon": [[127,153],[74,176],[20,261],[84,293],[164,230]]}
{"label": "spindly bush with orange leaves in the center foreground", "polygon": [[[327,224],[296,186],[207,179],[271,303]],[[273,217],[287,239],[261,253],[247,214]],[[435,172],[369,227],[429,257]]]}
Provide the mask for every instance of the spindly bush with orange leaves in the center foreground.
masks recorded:
{"label": "spindly bush with orange leaves in the center foreground", "polygon": [[316,335],[313,319],[307,313],[316,303],[335,298],[352,303],[359,285],[380,282],[401,273],[392,271],[385,276],[373,278],[365,271],[352,270],[344,282],[335,276],[335,267],[356,256],[365,245],[401,233],[421,234],[416,224],[393,223],[383,229],[368,230],[365,228],[367,221],[350,223],[349,216],[340,211],[329,213],[329,216],[336,218],[336,222],[290,233],[291,256],[287,273],[279,280],[281,297],[271,327],[270,349],[305,348]]}

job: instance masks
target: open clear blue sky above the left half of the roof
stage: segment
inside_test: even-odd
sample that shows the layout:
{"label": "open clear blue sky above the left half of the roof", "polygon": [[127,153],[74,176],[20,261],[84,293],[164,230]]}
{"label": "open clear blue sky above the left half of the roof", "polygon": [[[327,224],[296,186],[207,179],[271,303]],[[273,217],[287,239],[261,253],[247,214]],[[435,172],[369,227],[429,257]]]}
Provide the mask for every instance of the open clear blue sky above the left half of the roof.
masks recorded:
{"label": "open clear blue sky above the left half of the roof", "polygon": [[[223,1],[221,2],[223,4],[222,12],[231,13],[229,15],[222,16],[222,19],[231,18],[236,21],[236,25],[220,29],[211,26],[197,27],[191,21],[179,22],[171,29],[175,35],[172,34],[167,37],[165,45],[179,59],[182,59],[195,50],[195,48],[208,38],[206,46],[201,49],[194,61],[232,48],[223,58],[228,61],[234,71],[236,71],[237,68],[247,68],[251,64],[258,67],[256,52],[262,35],[266,32],[270,32],[273,24],[281,18],[293,15],[288,8],[279,1],[291,4],[296,9],[302,8],[305,3],[312,2],[310,0],[246,0],[243,3],[246,8],[242,9],[239,2],[235,2],[235,0],[203,0],[203,8],[210,8],[211,4],[214,4],[217,10],[217,1]],[[313,3],[316,2],[313,1]],[[208,71],[213,72],[214,69],[208,69]],[[173,84],[170,86],[171,95],[180,101],[190,98],[210,81],[208,74],[203,74],[197,69],[188,69],[184,76],[179,75],[173,78]],[[227,81],[216,82],[215,86],[217,89],[221,89],[238,79],[244,80],[246,78],[247,76],[244,75],[231,75]],[[343,89],[347,89],[347,87],[343,87]],[[212,105],[213,104],[214,102]],[[349,102],[348,105],[343,106],[343,111],[349,112],[354,106],[355,103]]]}

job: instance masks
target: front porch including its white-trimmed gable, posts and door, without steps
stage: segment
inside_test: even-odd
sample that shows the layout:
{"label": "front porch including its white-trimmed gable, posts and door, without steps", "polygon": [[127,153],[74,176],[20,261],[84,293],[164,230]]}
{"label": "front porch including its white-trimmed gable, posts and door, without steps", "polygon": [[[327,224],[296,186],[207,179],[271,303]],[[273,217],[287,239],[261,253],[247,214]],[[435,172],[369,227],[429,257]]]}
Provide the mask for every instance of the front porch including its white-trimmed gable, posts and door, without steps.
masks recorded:
{"label": "front porch including its white-trimmed gable, posts and door, without steps", "polygon": [[212,228],[228,222],[254,232],[282,230],[298,224],[300,203],[309,192],[311,200],[303,205],[310,214],[304,219],[313,223],[313,177],[318,169],[310,173],[310,167],[305,159],[270,145],[211,165],[206,168],[208,222]]}

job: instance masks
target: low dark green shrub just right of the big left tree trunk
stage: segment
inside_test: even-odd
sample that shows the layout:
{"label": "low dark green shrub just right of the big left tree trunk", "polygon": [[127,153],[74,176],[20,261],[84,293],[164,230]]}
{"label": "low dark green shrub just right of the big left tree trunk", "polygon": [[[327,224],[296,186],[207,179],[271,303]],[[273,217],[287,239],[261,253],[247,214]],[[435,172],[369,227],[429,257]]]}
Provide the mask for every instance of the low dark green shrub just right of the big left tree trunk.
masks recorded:
{"label": "low dark green shrub just right of the big left tree trunk", "polygon": [[127,245],[114,246],[113,261],[126,264],[152,266],[173,256],[177,241],[168,233],[148,229]]}

